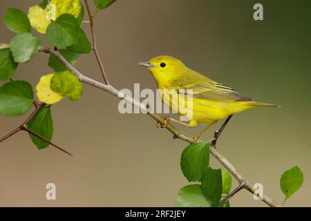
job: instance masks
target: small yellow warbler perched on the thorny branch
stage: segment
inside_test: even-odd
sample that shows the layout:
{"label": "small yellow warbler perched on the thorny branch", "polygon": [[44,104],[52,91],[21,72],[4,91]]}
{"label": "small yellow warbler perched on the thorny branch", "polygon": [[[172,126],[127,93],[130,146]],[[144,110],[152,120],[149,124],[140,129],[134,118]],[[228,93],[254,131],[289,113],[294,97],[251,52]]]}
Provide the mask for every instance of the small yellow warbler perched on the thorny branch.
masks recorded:
{"label": "small yellow warbler perched on the thorny branch", "polygon": [[[187,68],[182,61],[174,57],[154,57],[149,62],[140,62],[140,66],[147,67],[150,70],[157,81],[158,89],[161,89],[160,91],[167,90],[171,93],[173,90],[176,91],[178,96],[181,96],[182,93],[185,93],[185,90],[192,90],[192,107],[189,107],[191,108],[192,116],[189,117],[189,124],[171,117],[167,117],[166,122],[171,120],[190,127],[210,122],[205,130],[194,136],[195,141],[219,119],[227,117],[227,121],[225,122],[227,124],[232,115],[247,109],[261,106],[279,107],[274,104],[254,102],[249,97],[240,95],[236,90]],[[163,94],[161,98],[164,104],[167,104],[170,109],[173,108],[171,99],[164,99]],[[178,101],[180,101],[179,98]],[[180,113],[180,111],[177,111],[177,113],[179,115],[185,115],[184,113]],[[223,131],[225,124],[218,131],[218,135],[215,137],[216,139],[221,131]]]}

